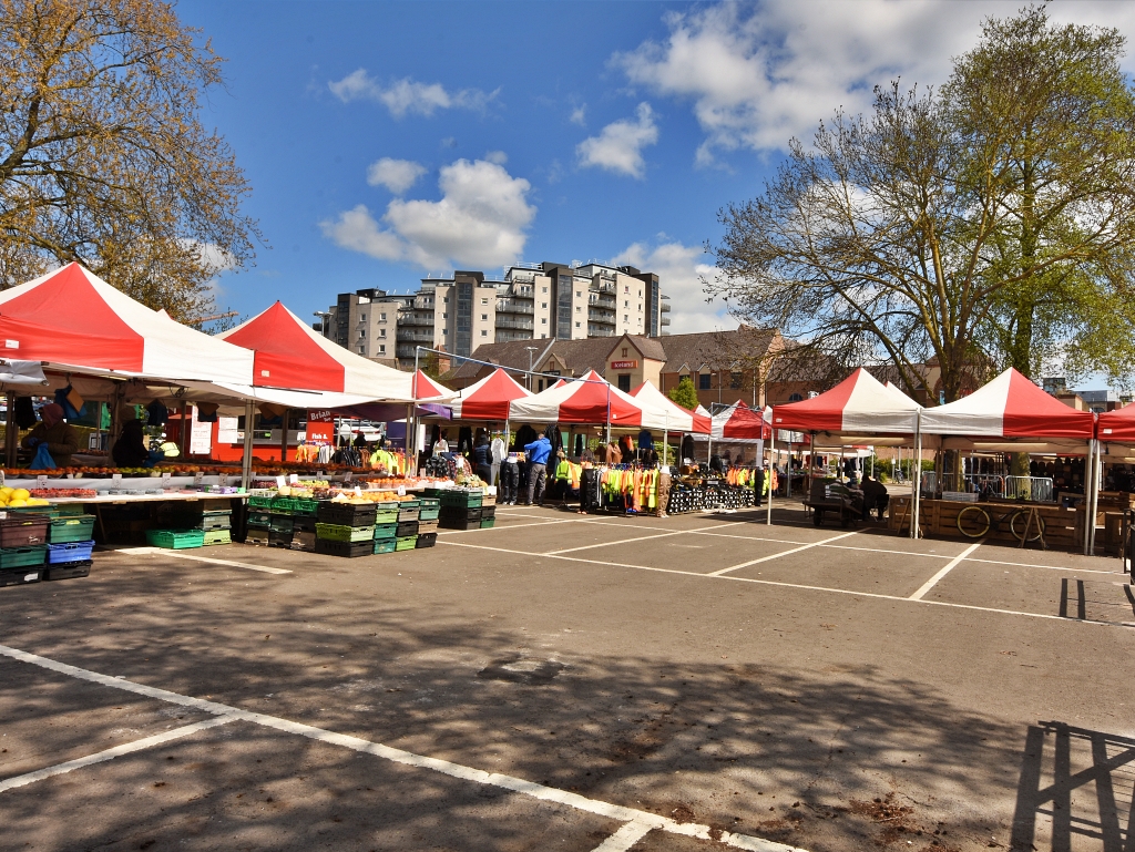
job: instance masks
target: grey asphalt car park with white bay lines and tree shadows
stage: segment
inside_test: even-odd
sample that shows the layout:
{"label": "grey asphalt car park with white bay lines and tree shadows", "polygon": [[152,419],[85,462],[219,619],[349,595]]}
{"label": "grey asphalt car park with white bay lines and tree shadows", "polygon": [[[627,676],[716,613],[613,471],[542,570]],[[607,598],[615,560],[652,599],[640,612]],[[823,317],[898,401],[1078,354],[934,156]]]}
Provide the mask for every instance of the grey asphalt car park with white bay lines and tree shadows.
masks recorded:
{"label": "grey asphalt car park with white bay lines and tree shadows", "polygon": [[497,517],[0,590],[0,845],[1129,849],[1118,559]]}

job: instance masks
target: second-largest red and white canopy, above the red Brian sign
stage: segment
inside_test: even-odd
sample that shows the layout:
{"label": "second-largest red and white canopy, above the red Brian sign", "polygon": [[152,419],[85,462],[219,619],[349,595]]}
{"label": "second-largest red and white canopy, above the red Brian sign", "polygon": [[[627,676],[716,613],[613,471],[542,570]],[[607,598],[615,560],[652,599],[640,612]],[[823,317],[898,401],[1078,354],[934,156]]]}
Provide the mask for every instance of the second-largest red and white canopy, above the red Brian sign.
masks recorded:
{"label": "second-largest red and white canopy, above the red Brian sign", "polygon": [[279,302],[220,337],[253,352],[255,387],[390,402],[413,398],[409,373],[376,364],[328,340]]}

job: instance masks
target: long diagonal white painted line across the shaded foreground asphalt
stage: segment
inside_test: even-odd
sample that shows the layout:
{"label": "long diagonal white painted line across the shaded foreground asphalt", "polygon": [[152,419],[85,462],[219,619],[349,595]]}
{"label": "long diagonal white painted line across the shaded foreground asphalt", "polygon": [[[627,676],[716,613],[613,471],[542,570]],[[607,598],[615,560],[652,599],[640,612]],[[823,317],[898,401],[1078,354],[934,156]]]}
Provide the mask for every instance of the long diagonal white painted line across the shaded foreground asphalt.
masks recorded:
{"label": "long diagonal white painted line across the shaded foreground asphalt", "polygon": [[[257,725],[275,728],[276,731],[283,731],[288,734],[297,734],[300,736],[306,736],[310,740],[317,740],[331,745],[339,745],[342,748],[351,749],[365,754],[373,754],[375,757],[384,758],[395,764],[412,766],[420,769],[432,769],[434,771],[442,773],[443,775],[448,775],[452,778],[511,790],[512,792],[520,793],[521,795],[527,795],[545,802],[555,802],[587,813],[595,813],[600,817],[614,819],[620,823],[648,825],[663,832],[684,835],[687,837],[697,837],[698,840],[717,840],[720,843],[733,846],[734,849],[755,850],[756,852],[804,852],[804,850],[793,849],[791,846],[771,844],[768,841],[746,834],[722,832],[721,836],[715,838],[709,834],[712,829],[707,825],[699,825],[697,823],[676,823],[669,817],[659,817],[657,813],[641,811],[636,808],[627,808],[622,804],[613,804],[598,799],[588,799],[587,796],[579,795],[578,793],[571,793],[566,790],[560,790],[557,787],[545,786],[544,784],[537,784],[531,781],[526,781],[524,778],[518,778],[513,775],[487,773],[482,769],[462,766],[461,764],[454,764],[449,760],[415,754],[411,751],[382,745],[381,743],[363,740],[359,736],[337,734],[334,731],[327,731],[312,725],[304,725],[303,723],[292,722],[291,719],[284,719],[278,716],[268,716],[262,712],[242,710],[237,707],[229,707],[217,701],[205,701],[191,695],[180,695],[176,692],[158,689],[155,686],[148,686],[142,683],[135,683],[134,681],[111,677],[110,675],[100,674],[99,672],[92,672],[86,668],[79,668],[78,666],[59,663],[58,660],[49,659],[48,657],[40,657],[39,655],[28,653],[27,651],[22,651],[17,648],[9,648],[3,644],[0,644],[0,655],[11,657],[12,659],[17,659],[33,666],[40,666],[41,668],[47,668],[51,672],[69,675],[70,677],[90,681],[103,686],[111,686],[112,689],[121,690],[124,692],[134,692],[140,695],[157,698],[182,707],[193,707],[199,710],[204,710],[205,712],[215,714],[224,719],[224,722],[220,719],[216,720],[216,724],[218,725],[236,719],[239,719],[241,722],[251,722]],[[197,725],[203,724],[204,723],[197,723]],[[196,726],[188,725],[187,727],[193,728]],[[182,728],[178,728],[178,731],[180,729]],[[162,735],[159,734],[158,736]],[[138,742],[144,741],[140,740]],[[716,834],[716,832],[714,832],[714,834]]]}

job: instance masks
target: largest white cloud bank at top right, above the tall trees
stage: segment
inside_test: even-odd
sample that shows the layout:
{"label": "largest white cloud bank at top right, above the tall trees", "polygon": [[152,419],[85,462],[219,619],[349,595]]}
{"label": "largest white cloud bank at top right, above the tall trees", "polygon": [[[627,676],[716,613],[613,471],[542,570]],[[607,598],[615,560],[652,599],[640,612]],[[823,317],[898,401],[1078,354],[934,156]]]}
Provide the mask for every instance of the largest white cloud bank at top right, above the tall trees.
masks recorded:
{"label": "largest white cloud bank at top right, above the tall trees", "polygon": [[[821,119],[841,106],[865,110],[872,88],[896,77],[941,84],[951,57],[976,44],[983,18],[1008,17],[1020,6],[1019,0],[723,3],[667,15],[664,42],[644,42],[612,61],[633,84],[692,101],[706,134],[697,160],[709,165],[715,150],[784,149],[792,136],[807,141]],[[1048,8],[1057,23],[1118,26],[1135,34],[1135,9],[1128,3]]]}

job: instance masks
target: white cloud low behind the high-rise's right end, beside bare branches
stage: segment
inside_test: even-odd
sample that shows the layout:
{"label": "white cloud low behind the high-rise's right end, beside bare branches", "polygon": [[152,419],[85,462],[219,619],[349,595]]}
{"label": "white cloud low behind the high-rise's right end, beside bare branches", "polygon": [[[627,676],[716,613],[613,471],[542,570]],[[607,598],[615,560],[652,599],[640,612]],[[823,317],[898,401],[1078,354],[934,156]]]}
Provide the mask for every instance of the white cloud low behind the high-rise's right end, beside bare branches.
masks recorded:
{"label": "white cloud low behind the high-rise's right end, beside bare branches", "polygon": [[662,292],[670,296],[673,309],[669,314],[672,324],[666,329],[672,335],[737,328],[737,320],[729,315],[724,302],[720,298],[706,302],[701,278],[712,281],[717,268],[701,246],[682,245],[676,241],[654,246],[632,243],[612,258],[611,263],[629,263],[658,276]]}

